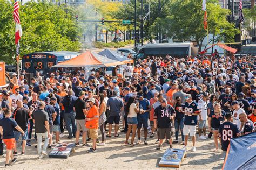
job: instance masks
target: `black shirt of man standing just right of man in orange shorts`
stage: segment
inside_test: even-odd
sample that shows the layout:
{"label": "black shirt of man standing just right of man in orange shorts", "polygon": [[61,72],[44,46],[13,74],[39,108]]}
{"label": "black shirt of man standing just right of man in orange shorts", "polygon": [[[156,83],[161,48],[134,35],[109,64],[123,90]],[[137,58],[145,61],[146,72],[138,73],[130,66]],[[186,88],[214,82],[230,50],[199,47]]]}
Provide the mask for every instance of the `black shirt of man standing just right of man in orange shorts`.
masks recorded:
{"label": "black shirt of man standing just right of man in orange shorts", "polygon": [[[28,119],[30,118],[29,110],[26,108],[16,108],[14,110],[13,118],[23,131],[28,129]],[[18,131],[17,129],[14,129]]]}

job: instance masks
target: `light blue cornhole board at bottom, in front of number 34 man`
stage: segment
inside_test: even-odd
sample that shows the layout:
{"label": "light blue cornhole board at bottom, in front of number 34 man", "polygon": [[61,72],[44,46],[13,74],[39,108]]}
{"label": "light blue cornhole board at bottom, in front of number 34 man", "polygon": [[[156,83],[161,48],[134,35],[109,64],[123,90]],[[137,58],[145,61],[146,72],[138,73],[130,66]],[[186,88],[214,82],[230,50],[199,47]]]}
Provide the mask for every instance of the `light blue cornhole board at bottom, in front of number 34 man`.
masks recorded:
{"label": "light blue cornhole board at bottom, in front of number 34 man", "polygon": [[179,168],[185,156],[186,151],[184,149],[167,148],[158,165],[160,167]]}

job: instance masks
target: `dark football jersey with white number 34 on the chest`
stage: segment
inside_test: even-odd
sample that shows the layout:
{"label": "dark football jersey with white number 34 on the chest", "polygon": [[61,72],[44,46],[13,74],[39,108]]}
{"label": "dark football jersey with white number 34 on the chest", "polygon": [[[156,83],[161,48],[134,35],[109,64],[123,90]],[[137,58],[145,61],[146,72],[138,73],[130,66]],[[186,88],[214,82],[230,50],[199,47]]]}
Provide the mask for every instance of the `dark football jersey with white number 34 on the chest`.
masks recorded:
{"label": "dark football jersey with white number 34 on the chest", "polygon": [[171,128],[173,126],[170,116],[175,116],[176,112],[173,107],[167,104],[166,108],[159,105],[154,109],[154,119],[157,119],[157,128]]}

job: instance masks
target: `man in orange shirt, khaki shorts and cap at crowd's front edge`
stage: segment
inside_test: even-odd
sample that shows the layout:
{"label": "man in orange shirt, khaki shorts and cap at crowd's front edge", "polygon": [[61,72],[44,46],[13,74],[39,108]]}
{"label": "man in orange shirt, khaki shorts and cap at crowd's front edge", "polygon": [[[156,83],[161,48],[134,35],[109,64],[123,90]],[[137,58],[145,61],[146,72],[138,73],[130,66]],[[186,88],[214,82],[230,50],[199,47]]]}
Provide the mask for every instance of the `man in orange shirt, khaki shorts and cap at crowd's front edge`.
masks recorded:
{"label": "man in orange shirt, khaki shorts and cap at crowd's front edge", "polygon": [[96,151],[96,141],[98,138],[99,110],[96,107],[96,101],[94,98],[89,98],[87,102],[90,105],[90,109],[88,110],[85,118],[85,126],[92,139],[92,147],[87,152],[93,153]]}

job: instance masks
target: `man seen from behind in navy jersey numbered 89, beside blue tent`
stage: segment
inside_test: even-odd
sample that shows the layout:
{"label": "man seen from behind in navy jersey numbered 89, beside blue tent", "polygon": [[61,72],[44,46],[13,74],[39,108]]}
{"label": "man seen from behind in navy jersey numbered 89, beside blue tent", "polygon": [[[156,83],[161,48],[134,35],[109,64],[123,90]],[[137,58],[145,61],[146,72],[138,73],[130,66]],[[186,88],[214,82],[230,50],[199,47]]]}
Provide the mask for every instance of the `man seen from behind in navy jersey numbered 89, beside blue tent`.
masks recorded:
{"label": "man seen from behind in navy jersey numbered 89, beside blue tent", "polygon": [[238,127],[233,123],[233,116],[231,114],[225,115],[227,121],[219,126],[218,137],[221,140],[221,150],[223,150],[224,160],[226,158],[227,147],[230,144],[231,138],[241,136]]}

